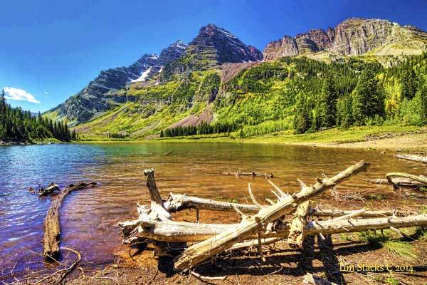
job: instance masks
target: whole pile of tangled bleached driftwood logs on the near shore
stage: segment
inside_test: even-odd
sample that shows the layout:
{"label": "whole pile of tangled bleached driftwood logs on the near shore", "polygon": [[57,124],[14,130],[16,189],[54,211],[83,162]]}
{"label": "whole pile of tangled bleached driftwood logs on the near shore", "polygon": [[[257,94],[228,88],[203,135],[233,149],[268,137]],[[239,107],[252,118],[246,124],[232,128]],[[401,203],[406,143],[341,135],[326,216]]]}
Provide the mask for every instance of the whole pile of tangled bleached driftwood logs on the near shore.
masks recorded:
{"label": "whole pile of tangled bleached driftwood logs on the near shore", "polygon": [[[223,251],[241,249],[258,249],[263,258],[263,245],[287,240],[293,248],[302,246],[304,237],[330,237],[330,234],[347,232],[365,232],[377,229],[398,229],[401,227],[427,226],[427,214],[397,217],[391,210],[366,211],[365,209],[339,210],[319,209],[309,206],[309,199],[325,190],[331,189],[352,175],[367,170],[369,163],[358,162],[334,177],[317,178],[312,186],[303,182],[301,191],[288,195],[280,190],[271,180],[273,194],[278,202],[271,206],[262,205],[253,195],[251,184],[248,192],[253,204],[238,204],[218,202],[211,199],[188,197],[170,193],[167,199],[162,199],[154,180],[154,170],[145,170],[149,188],[151,207],[138,205],[137,220],[121,222],[126,244],[134,242],[153,242],[154,254],[162,255],[156,250],[173,249],[174,267],[179,271],[189,271],[211,257]],[[238,224],[204,224],[198,222],[178,222],[170,216],[171,212],[182,209],[199,210],[211,209],[216,211],[237,212],[241,216]],[[248,216],[252,214],[252,216]],[[288,215],[292,218],[287,222]],[[310,220],[310,216],[333,217],[321,221]],[[195,243],[196,242],[196,243]],[[186,248],[187,243],[193,243]],[[195,243],[195,244],[194,244]],[[178,245],[176,247],[176,245]],[[170,254],[169,254],[170,255]]]}

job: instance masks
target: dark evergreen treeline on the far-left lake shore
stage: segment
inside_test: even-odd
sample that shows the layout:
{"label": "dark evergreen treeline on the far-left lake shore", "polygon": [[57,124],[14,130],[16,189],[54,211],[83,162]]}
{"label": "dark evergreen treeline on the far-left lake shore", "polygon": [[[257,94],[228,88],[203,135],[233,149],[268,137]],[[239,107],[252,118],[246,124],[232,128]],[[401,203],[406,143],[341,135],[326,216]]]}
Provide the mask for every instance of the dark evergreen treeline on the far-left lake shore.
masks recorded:
{"label": "dark evergreen treeline on the far-left lake shore", "polygon": [[65,122],[52,122],[40,113],[32,116],[30,111],[12,108],[6,103],[4,90],[0,95],[0,139],[28,142],[56,138],[68,142],[78,140],[78,134],[70,132]]}

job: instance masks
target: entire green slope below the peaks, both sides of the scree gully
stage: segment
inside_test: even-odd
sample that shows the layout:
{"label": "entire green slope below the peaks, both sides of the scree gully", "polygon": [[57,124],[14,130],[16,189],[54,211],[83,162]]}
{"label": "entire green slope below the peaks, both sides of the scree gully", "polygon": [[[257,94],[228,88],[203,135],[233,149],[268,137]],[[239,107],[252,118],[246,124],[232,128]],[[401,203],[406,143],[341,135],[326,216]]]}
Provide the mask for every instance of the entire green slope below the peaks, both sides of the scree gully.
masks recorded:
{"label": "entire green slope below the peaks, both sides of the scree gully", "polygon": [[[156,86],[133,86],[132,101],[78,130],[144,138],[226,133],[246,138],[352,125],[423,125],[427,53],[384,68],[365,58],[315,61],[285,57],[243,68],[229,81],[221,69],[194,71]],[[211,106],[214,120],[179,124]],[[172,127],[170,127],[172,125]]]}

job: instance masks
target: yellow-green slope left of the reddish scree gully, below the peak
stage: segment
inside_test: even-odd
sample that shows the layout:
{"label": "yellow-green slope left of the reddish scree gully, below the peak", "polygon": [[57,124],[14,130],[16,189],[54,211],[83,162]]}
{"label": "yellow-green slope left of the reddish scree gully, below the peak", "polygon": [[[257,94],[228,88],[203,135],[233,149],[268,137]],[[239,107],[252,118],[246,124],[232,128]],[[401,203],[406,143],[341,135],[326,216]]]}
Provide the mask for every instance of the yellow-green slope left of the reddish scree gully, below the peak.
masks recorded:
{"label": "yellow-green slope left of the reddish scree gully, below the peak", "polygon": [[[189,102],[195,93],[207,90],[207,81],[204,79],[212,78],[215,74],[214,71],[196,72],[181,80],[157,86],[131,86],[127,94],[135,101],[107,111],[89,123],[78,126],[77,130],[86,133],[127,133],[134,138],[157,134],[186,116],[204,110],[205,102],[196,102],[194,105]],[[204,86],[201,87],[201,83]]]}

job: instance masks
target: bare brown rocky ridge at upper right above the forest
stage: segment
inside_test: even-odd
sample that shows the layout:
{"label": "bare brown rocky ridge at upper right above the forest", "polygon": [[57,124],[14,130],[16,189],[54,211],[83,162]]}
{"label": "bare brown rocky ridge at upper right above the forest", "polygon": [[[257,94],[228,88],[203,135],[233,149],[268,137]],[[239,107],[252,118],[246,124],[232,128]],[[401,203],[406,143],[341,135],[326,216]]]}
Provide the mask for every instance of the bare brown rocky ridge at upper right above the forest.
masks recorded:
{"label": "bare brown rocky ridge at upper right above the forest", "polygon": [[427,48],[427,33],[413,26],[399,26],[381,19],[347,19],[335,28],[315,29],[295,37],[284,36],[268,43],[265,60],[283,56],[330,51],[340,56],[365,53],[386,56],[421,53]]}

